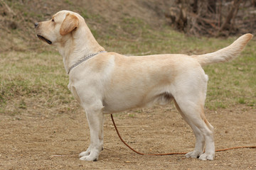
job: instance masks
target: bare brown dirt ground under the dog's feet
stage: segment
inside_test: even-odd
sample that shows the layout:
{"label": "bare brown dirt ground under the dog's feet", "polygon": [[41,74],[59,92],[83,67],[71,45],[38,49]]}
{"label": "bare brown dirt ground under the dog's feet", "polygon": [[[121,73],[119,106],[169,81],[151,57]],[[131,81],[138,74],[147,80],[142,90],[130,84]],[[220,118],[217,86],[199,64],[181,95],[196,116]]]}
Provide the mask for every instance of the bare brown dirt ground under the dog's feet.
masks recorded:
{"label": "bare brown dirt ground under the dog's feet", "polygon": [[[255,146],[255,107],[206,111],[215,127],[215,147]],[[119,131],[139,152],[191,152],[195,138],[174,106],[154,106],[114,114]],[[0,169],[256,169],[255,149],[217,152],[213,161],[184,155],[142,156],[119,140],[105,115],[105,149],[97,162],[80,161],[89,145],[82,109],[42,115],[36,109],[20,115],[0,115]]]}

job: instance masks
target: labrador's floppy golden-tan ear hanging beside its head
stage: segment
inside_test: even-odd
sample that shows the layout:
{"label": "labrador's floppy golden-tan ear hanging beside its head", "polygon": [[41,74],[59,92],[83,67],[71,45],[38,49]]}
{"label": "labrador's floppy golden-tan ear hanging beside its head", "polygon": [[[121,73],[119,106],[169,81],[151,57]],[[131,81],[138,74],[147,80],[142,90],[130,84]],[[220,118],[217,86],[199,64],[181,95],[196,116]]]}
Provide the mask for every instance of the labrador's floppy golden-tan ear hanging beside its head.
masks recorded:
{"label": "labrador's floppy golden-tan ear hanging beside its head", "polygon": [[60,26],[60,35],[66,35],[77,28],[79,25],[78,17],[68,14]]}

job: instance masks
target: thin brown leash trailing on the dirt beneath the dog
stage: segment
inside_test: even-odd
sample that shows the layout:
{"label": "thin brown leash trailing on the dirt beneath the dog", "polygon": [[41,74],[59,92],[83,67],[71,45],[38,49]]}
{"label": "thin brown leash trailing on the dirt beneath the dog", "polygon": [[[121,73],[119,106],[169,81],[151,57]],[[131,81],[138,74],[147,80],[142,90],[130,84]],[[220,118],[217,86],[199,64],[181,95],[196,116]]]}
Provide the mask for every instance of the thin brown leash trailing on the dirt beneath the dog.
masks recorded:
{"label": "thin brown leash trailing on the dirt beneath the dog", "polygon": [[[142,155],[156,155],[156,156],[164,156],[164,155],[174,155],[174,154],[186,154],[186,152],[171,152],[171,153],[167,153],[167,154],[144,154],[141,152],[138,152],[137,150],[133,149],[132,147],[130,147],[127,142],[124,142],[124,140],[122,139],[121,135],[119,134],[119,131],[117,130],[117,126],[114,123],[114,118],[113,115],[111,114],[111,119],[112,119],[112,123],[114,125],[114,129],[117,131],[117,135],[119,136],[120,140],[124,143],[124,145],[126,145],[127,147],[129,147],[129,149],[131,149],[133,152],[137,153],[137,154],[142,154]],[[226,150],[231,150],[231,149],[240,149],[240,148],[256,148],[256,146],[251,146],[251,147],[230,147],[230,148],[225,148],[225,149],[218,149],[215,150],[215,152],[222,152],[222,151],[226,151]]]}

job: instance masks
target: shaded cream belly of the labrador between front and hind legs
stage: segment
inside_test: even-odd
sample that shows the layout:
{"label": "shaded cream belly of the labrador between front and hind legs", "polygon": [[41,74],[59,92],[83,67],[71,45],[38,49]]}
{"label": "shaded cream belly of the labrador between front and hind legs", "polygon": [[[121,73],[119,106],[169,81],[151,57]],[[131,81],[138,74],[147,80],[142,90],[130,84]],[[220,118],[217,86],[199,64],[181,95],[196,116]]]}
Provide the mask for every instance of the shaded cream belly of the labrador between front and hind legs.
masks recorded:
{"label": "shaded cream belly of the labrador between front and hind legs", "polygon": [[102,102],[104,106],[103,113],[117,113],[132,108],[146,108],[156,103],[166,105],[173,99],[170,85],[163,86],[159,84],[154,88],[125,86],[124,89],[116,89],[116,91],[105,96]]}

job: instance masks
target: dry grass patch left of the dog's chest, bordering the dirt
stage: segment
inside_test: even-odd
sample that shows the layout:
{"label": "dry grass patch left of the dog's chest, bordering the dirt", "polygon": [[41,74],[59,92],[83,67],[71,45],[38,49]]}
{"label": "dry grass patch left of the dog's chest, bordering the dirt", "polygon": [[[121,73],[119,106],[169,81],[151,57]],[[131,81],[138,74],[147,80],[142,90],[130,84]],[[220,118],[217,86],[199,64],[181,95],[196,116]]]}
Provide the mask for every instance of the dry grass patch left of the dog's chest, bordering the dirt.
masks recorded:
{"label": "dry grass patch left of the dog's chest, bordering the dirt", "polygon": [[59,55],[9,52],[0,57],[1,113],[16,115],[19,109],[54,108],[73,100]]}

